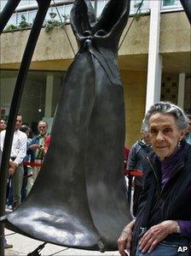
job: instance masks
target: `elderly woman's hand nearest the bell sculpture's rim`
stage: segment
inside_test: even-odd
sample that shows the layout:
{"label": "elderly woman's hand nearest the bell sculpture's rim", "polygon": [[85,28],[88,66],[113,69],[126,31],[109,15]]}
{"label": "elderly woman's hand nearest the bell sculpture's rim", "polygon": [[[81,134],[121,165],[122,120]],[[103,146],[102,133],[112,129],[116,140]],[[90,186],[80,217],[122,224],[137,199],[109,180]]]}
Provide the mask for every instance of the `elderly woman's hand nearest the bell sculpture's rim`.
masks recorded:
{"label": "elderly woman's hand nearest the bell sculpture's rim", "polygon": [[132,230],[135,225],[135,220],[131,221],[128,225],[125,226],[124,230],[122,231],[121,235],[118,239],[118,248],[119,253],[121,256],[126,256],[125,250],[130,253],[130,245],[132,241]]}

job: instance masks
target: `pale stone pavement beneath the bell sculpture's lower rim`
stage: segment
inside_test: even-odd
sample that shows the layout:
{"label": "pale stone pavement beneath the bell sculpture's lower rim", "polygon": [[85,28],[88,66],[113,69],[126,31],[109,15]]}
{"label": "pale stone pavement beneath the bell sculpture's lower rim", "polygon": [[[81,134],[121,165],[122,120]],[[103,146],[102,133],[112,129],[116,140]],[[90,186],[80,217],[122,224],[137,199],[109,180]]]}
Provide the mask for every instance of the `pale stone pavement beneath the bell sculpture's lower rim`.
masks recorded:
{"label": "pale stone pavement beneath the bell sculpture's lower rim", "polygon": [[[5,234],[8,235],[6,236],[6,239],[9,244],[13,244],[13,248],[6,249],[5,250],[5,256],[15,256],[15,255],[20,255],[20,256],[26,256],[28,253],[32,253],[39,245],[43,244],[43,241],[37,241],[33,240],[31,238],[28,238],[24,235],[20,234],[14,234],[14,235],[9,235],[13,234],[12,231],[5,229]],[[52,244],[46,244],[43,250],[40,252],[41,255],[55,255],[55,256],[69,256],[69,255],[84,255],[84,256],[119,256],[119,252],[105,252],[105,253],[100,253],[96,251],[86,251],[86,250],[78,250],[78,249],[73,249],[73,248],[67,248],[67,247],[61,247],[61,246],[55,246]]]}

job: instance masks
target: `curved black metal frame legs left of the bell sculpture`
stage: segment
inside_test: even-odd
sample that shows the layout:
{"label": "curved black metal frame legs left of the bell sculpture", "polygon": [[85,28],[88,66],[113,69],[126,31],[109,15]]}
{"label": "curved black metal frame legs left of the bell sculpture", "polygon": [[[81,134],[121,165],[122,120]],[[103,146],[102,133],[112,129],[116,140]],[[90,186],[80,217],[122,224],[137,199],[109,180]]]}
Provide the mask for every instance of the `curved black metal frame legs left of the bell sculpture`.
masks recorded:
{"label": "curved black metal frame legs left of the bell sculpture", "polygon": [[[20,0],[9,0],[6,3],[3,11],[0,14],[0,34],[3,32],[3,28],[9,21],[10,16],[13,14],[14,9],[20,3]],[[16,83],[14,86],[14,94],[9,110],[9,120],[6,129],[6,135],[3,146],[3,156],[0,171],[0,217],[5,214],[5,202],[6,202],[6,182],[7,182],[7,171],[9,167],[9,156],[11,150],[11,144],[14,134],[14,123],[16,120],[16,115],[20,107],[20,98],[26,82],[26,75],[32,60],[32,54],[37,44],[38,36],[43,25],[44,17],[49,9],[50,0],[41,1],[37,0],[38,3],[38,13],[35,17],[34,23],[32,25],[31,33],[26,43],[26,49],[24,51],[19,73],[17,75]],[[0,222],[0,255],[4,255],[4,240],[3,240],[3,222]]]}

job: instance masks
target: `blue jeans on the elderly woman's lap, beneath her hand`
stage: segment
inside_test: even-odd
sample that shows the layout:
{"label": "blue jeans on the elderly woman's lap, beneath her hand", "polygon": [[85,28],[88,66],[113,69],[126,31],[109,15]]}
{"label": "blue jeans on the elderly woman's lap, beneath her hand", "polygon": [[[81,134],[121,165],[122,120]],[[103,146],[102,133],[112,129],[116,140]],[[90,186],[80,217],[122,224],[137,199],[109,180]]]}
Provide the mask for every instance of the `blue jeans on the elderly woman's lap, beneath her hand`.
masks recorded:
{"label": "blue jeans on the elderly woman's lap, beneath her hand", "polygon": [[190,247],[188,241],[179,237],[178,239],[162,241],[152,253],[142,253],[139,247],[136,248],[136,256],[189,256]]}

